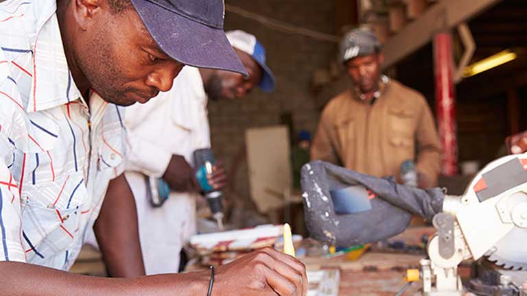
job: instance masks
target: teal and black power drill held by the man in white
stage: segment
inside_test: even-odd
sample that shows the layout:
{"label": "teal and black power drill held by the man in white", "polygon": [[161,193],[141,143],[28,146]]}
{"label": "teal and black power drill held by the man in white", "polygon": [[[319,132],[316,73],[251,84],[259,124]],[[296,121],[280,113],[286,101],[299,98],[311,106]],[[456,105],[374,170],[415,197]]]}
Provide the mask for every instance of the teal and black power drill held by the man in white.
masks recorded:
{"label": "teal and black power drill held by the man in white", "polygon": [[198,149],[194,151],[194,168],[196,169],[196,179],[200,183],[207,203],[212,212],[212,217],[218,223],[218,229],[223,230],[223,206],[222,191],[214,190],[209,184],[207,175],[213,173],[213,166],[216,163],[210,148]]}

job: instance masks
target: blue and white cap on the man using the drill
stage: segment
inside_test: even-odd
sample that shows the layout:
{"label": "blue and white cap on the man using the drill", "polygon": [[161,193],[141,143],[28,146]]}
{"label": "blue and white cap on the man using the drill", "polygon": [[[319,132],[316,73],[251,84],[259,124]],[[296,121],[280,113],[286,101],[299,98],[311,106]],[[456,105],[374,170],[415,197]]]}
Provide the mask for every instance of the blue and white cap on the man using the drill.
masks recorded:
{"label": "blue and white cap on the man using the drill", "polygon": [[258,86],[266,93],[272,92],[274,90],[274,75],[266,65],[266,50],[261,43],[256,40],[253,34],[248,34],[242,30],[226,32],[226,36],[233,47],[247,53],[261,66],[264,73],[262,73],[263,75]]}

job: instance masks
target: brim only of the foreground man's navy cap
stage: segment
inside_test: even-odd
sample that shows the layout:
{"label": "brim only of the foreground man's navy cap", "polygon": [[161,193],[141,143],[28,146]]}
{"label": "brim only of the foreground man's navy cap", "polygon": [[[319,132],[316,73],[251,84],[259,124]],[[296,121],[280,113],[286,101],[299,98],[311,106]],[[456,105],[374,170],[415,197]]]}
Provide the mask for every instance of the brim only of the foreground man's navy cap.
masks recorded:
{"label": "brim only of the foreground man's navy cap", "polygon": [[157,45],[174,60],[248,75],[222,29],[192,21],[150,1],[132,3]]}

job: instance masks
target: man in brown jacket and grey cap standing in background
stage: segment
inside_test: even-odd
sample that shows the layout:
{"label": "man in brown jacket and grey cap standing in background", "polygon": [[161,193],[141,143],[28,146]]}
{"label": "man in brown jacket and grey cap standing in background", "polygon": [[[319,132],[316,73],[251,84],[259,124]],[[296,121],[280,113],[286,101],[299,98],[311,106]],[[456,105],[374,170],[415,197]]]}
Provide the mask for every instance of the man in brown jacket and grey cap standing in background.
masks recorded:
{"label": "man in brown jacket and grey cap standing in background", "polygon": [[346,34],[340,61],[353,86],[327,103],[311,159],[377,177],[393,175],[399,182],[401,164],[410,160],[419,187],[435,186],[441,144],[423,95],[381,74],[383,56],[372,32]]}

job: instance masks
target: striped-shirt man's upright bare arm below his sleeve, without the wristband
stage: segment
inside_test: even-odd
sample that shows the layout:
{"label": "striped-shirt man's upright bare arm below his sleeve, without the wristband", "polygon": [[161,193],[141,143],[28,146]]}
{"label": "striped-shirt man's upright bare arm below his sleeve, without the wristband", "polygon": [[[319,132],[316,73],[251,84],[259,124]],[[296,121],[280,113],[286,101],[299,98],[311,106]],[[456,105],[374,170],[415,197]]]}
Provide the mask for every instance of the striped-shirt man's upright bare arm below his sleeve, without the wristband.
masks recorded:
{"label": "striped-shirt man's upright bare arm below his sleeve, without the wristband", "polygon": [[134,196],[124,174],[110,181],[95,225],[97,242],[113,277],[145,275]]}

